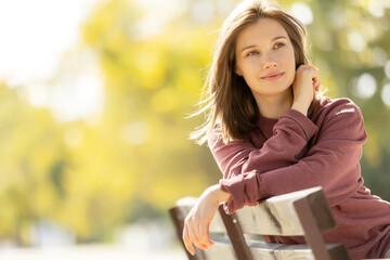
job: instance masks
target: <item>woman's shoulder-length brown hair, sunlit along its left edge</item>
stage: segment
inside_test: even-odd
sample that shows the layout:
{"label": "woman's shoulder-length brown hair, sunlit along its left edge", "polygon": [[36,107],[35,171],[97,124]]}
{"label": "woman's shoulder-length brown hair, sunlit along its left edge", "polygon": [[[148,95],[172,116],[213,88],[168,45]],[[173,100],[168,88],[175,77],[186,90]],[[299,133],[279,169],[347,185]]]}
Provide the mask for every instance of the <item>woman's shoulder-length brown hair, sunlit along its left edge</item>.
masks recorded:
{"label": "woman's shoulder-length brown hair, sunlit along its left edge", "polygon": [[[200,109],[194,115],[206,113],[207,118],[191,139],[203,144],[220,125],[221,138],[226,143],[245,140],[257,127],[258,106],[245,79],[235,74],[235,48],[239,32],[260,18],[277,21],[286,30],[294,48],[296,68],[308,64],[304,25],[268,0],[246,0],[224,21],[217,41],[211,67],[208,72]],[[206,96],[205,96],[206,95]]]}

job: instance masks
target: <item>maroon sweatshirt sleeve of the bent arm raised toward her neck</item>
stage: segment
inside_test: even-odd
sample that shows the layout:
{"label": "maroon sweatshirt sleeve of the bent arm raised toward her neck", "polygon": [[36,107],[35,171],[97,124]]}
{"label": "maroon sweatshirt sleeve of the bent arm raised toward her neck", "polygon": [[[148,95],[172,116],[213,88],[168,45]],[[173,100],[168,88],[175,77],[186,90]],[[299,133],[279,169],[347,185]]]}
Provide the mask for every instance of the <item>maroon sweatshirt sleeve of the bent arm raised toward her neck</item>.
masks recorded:
{"label": "maroon sweatshirt sleeve of the bent arm raised toward her neck", "polygon": [[265,172],[298,161],[317,127],[303,114],[289,109],[273,128],[273,136],[257,148],[249,140],[224,144],[217,129],[209,138],[209,146],[224,179],[256,169]]}

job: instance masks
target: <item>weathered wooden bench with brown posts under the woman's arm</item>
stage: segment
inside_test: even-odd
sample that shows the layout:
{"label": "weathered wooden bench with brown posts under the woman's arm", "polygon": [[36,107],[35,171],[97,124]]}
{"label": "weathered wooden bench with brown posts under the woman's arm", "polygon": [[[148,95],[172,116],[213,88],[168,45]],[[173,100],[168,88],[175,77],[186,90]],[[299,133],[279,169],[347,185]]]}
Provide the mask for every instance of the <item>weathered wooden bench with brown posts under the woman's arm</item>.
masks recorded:
{"label": "weathered wooden bench with brown posts under the woman's arm", "polygon": [[[184,219],[196,198],[180,199],[169,210],[182,242]],[[336,227],[321,187],[271,197],[256,207],[244,207],[229,216],[222,205],[210,223],[216,245],[208,250],[195,247],[190,260],[250,259],[350,259],[342,244],[324,243],[322,234]],[[262,240],[261,235],[304,236],[308,245],[283,245]]]}

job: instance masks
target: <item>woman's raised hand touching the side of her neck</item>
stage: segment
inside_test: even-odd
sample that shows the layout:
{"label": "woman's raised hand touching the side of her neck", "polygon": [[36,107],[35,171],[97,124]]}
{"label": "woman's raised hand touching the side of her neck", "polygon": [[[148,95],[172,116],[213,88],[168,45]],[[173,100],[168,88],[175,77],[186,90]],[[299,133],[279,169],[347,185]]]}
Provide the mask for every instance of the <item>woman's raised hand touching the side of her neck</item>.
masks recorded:
{"label": "woman's raised hand touching the side of her neck", "polygon": [[320,86],[318,69],[313,65],[300,65],[292,82],[294,101],[291,108],[307,116],[314,99],[314,92],[320,90]]}

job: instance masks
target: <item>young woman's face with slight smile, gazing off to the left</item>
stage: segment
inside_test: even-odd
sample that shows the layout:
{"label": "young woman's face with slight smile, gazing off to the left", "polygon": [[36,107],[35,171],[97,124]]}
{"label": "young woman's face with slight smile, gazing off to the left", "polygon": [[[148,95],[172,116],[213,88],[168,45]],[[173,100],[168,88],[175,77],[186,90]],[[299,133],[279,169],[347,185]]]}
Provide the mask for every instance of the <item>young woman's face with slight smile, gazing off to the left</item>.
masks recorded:
{"label": "young woman's face with slight smile, gazing off to the left", "polygon": [[295,78],[294,48],[275,20],[248,25],[236,42],[236,73],[244,77],[255,98],[285,93]]}

